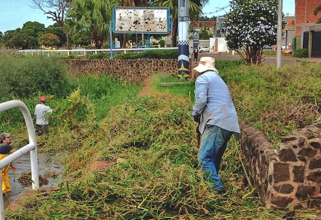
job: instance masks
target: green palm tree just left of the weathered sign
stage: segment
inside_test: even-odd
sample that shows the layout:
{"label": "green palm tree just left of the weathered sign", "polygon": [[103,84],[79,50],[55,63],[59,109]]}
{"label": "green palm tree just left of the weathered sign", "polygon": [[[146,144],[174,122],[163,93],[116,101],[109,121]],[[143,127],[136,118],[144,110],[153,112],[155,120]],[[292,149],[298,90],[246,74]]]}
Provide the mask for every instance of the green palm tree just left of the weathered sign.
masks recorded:
{"label": "green palm tree just left of the weathered sign", "polygon": [[73,0],[68,16],[72,32],[89,30],[96,48],[102,48],[109,35],[112,8],[118,0]]}

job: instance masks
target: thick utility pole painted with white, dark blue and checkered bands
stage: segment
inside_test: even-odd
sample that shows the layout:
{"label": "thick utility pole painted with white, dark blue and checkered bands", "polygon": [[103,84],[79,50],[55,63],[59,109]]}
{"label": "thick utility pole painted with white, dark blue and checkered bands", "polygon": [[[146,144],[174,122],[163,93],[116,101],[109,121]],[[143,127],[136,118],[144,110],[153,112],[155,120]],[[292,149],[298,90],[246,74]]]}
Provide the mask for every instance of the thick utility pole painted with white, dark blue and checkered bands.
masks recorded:
{"label": "thick utility pole painted with white, dark blue and checkered bands", "polygon": [[178,0],[178,74],[189,75],[189,0]]}

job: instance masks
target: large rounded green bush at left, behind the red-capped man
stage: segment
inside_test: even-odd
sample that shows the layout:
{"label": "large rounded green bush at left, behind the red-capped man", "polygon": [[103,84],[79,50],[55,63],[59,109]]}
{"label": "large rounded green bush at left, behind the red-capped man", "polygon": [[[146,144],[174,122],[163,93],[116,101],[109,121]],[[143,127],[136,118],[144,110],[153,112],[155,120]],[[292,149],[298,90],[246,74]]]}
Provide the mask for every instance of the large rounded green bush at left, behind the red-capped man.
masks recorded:
{"label": "large rounded green bush at left, behind the red-capped man", "polygon": [[0,56],[0,100],[41,94],[64,96],[71,88],[65,65],[57,58],[45,56]]}

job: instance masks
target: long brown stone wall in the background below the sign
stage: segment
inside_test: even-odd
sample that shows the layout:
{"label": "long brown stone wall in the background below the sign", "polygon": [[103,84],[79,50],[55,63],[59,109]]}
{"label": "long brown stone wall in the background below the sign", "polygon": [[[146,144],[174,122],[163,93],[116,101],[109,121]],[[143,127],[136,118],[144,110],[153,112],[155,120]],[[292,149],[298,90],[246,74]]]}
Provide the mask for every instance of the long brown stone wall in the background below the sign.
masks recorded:
{"label": "long brown stone wall in the background below the sign", "polygon": [[70,71],[74,75],[112,74],[119,79],[141,83],[154,73],[176,74],[178,72],[177,64],[177,59],[73,59],[70,61]]}

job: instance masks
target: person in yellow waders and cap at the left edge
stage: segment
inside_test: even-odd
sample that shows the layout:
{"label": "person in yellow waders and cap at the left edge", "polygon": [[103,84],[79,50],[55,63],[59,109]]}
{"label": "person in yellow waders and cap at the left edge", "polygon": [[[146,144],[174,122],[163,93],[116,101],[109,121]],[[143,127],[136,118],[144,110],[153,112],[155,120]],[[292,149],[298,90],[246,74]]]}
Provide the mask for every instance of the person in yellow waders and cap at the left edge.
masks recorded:
{"label": "person in yellow waders and cap at the left edge", "polygon": [[[10,151],[12,150],[12,147],[10,146],[12,140],[11,140],[11,134],[9,133],[2,133],[0,135],[0,160],[4,157],[8,156]],[[11,190],[10,180],[9,180],[9,169],[12,169],[13,172],[17,171],[17,168],[12,164],[8,164],[1,170],[2,175],[2,193],[7,193]]]}

